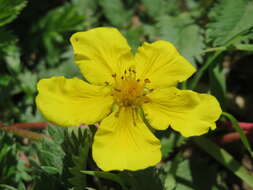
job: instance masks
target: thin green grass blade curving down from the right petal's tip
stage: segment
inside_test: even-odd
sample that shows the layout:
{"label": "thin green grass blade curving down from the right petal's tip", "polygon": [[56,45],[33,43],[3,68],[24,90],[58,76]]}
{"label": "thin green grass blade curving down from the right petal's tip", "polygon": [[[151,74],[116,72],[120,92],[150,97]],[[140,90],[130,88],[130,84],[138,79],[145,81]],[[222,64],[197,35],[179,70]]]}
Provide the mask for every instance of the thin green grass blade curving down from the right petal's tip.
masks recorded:
{"label": "thin green grass blade curving down from the right petal's tip", "polygon": [[234,118],[234,116],[232,116],[229,113],[223,112],[222,115],[225,116],[227,119],[229,119],[229,121],[232,123],[232,126],[234,127],[236,132],[240,134],[240,137],[241,137],[244,147],[249,151],[250,155],[253,157],[253,152],[252,152],[250,143],[248,141],[248,138],[244,134],[244,132],[243,132],[242,128],[240,127],[240,125],[238,124],[237,120]]}

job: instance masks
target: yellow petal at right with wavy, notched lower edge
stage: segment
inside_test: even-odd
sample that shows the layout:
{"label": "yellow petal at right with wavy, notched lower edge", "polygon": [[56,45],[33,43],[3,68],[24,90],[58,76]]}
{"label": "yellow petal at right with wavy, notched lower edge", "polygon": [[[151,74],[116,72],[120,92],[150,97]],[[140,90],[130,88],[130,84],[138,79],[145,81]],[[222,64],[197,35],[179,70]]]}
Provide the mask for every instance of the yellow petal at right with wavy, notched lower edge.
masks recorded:
{"label": "yellow petal at right with wavy, notched lower edge", "polygon": [[165,88],[154,90],[149,98],[151,102],[144,104],[143,110],[151,126],[163,130],[170,125],[185,137],[215,129],[221,114],[218,101],[208,94]]}

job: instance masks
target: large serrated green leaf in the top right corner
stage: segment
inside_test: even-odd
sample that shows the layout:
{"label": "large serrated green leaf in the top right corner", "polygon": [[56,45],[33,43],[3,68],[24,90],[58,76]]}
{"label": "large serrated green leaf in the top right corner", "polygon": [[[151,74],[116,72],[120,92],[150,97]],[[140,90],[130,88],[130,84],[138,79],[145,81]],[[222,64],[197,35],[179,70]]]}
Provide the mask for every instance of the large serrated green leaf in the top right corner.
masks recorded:
{"label": "large serrated green leaf in the top right corner", "polygon": [[224,45],[241,31],[253,26],[253,1],[223,0],[213,8],[209,18],[207,41]]}

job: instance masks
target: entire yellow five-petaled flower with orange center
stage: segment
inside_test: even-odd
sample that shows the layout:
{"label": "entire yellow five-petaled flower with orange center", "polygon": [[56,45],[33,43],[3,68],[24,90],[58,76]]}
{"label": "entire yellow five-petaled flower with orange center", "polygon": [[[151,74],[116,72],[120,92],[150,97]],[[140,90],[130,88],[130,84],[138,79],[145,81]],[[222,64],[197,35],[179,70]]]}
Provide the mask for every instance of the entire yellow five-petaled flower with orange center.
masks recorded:
{"label": "entire yellow five-petaled flower with orange center", "polygon": [[144,43],[133,55],[118,30],[105,27],[75,33],[70,41],[89,83],[42,79],[36,104],[61,126],[101,121],[92,155],[102,170],[138,170],[160,161],[160,141],[143,117],[154,129],[170,126],[185,137],[215,129],[219,103],[211,95],[176,88],[195,69],[169,42]]}

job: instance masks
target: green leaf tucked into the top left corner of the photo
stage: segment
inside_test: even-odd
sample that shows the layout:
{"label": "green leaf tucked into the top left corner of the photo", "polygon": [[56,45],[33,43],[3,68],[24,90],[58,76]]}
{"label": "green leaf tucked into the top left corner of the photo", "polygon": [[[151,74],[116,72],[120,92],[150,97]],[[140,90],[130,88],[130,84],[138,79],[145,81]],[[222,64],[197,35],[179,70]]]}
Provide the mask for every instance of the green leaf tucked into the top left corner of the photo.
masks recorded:
{"label": "green leaf tucked into the top left corner of the photo", "polygon": [[0,26],[13,21],[26,4],[26,0],[0,0]]}

